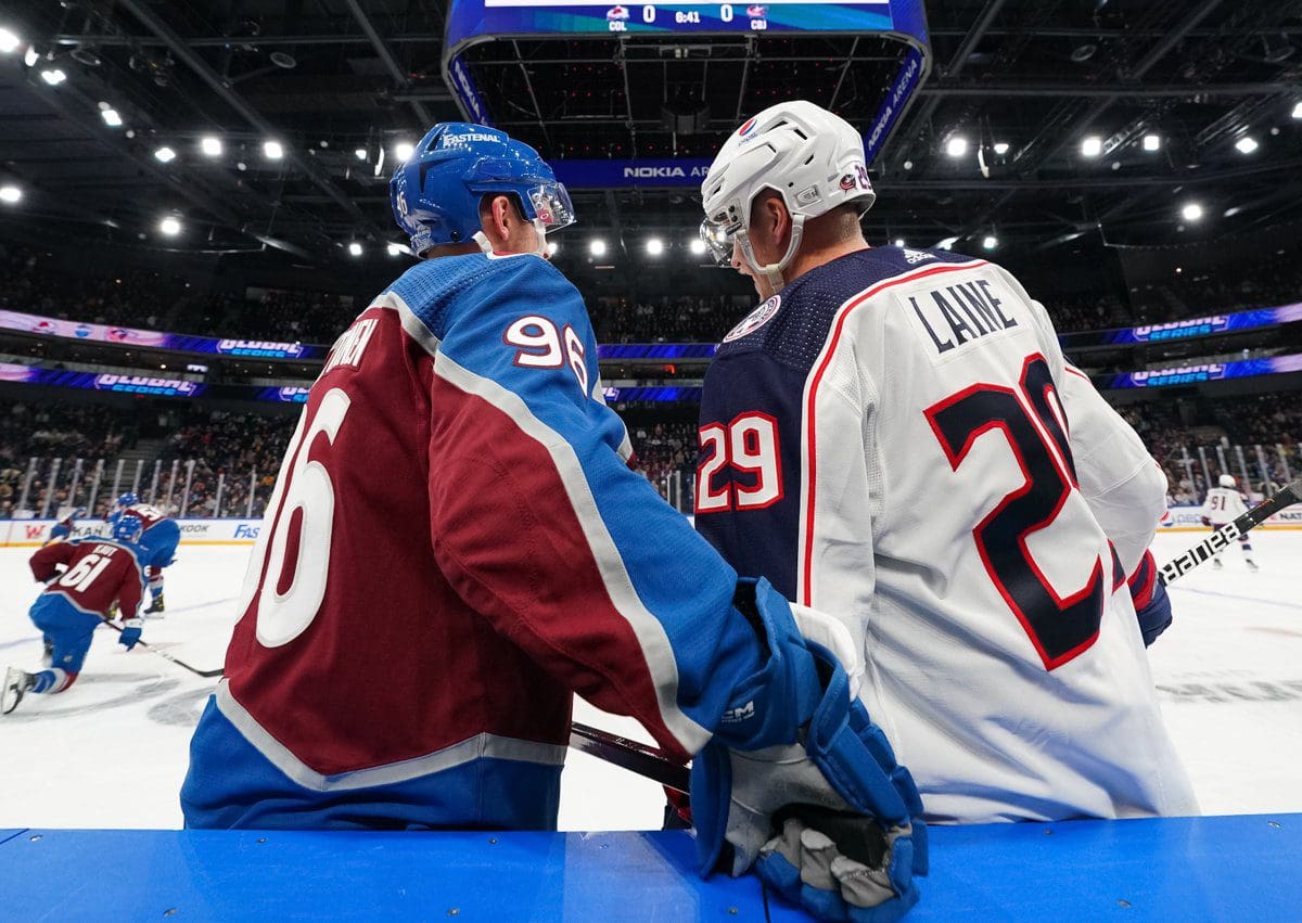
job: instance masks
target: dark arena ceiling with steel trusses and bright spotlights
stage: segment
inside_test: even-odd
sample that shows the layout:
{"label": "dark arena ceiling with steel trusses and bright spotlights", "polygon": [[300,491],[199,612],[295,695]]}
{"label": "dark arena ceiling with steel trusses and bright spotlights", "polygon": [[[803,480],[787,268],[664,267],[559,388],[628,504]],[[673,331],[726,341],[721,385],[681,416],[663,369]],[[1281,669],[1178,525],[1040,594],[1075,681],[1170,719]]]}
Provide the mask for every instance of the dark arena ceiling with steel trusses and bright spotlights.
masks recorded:
{"label": "dark arena ceiling with steel trusses and bright spotlights", "polygon": [[[0,203],[0,224],[48,241],[275,249],[316,263],[353,242],[397,241],[395,146],[460,117],[440,74],[445,3],[10,0],[0,27],[20,43],[0,53],[0,185],[23,198]],[[1177,243],[1293,220],[1302,1],[931,0],[927,10],[935,66],[875,164],[878,238]],[[504,126],[546,156],[664,146],[664,133],[637,130],[629,92],[708,102],[707,124],[668,139],[708,156],[775,86],[852,118],[867,105],[871,42],[825,39],[799,55],[783,42],[741,52],[769,78],[730,78],[734,52],[719,49],[700,86],[682,69],[631,70],[637,55],[611,39],[574,43],[568,64],[521,43],[490,48],[518,83],[504,77],[516,96]],[[578,66],[590,68],[585,86],[611,85],[596,108],[586,99],[582,121],[566,102]],[[861,73],[862,86],[844,79]],[[220,151],[210,141],[206,152],[206,138]],[[950,156],[956,138],[966,147]],[[586,228],[626,246],[687,234],[699,216],[690,190],[577,198]],[[180,234],[160,230],[165,216]]]}

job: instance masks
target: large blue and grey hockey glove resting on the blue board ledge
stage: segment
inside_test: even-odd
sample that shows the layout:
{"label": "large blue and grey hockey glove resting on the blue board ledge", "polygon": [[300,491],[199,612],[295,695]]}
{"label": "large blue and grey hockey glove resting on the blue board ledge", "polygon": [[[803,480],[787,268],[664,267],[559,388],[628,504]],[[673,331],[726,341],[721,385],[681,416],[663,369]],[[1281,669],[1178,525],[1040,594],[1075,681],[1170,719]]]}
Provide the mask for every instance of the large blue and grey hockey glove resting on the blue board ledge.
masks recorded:
{"label": "large blue and grey hockey glove resting on the blue board ledge", "polygon": [[[760,674],[788,693],[747,698],[759,682],[745,683],[736,700],[746,704],[730,711],[763,700],[762,733],[746,741],[737,723],[721,725],[693,760],[700,874],[719,864],[734,876],[753,868],[818,919],[896,920],[918,901],[914,876],[927,874],[913,778],[852,699],[838,660],[799,637],[786,600],[760,581],[754,601],[753,624],[769,648]],[[796,734],[775,739],[792,726]]]}

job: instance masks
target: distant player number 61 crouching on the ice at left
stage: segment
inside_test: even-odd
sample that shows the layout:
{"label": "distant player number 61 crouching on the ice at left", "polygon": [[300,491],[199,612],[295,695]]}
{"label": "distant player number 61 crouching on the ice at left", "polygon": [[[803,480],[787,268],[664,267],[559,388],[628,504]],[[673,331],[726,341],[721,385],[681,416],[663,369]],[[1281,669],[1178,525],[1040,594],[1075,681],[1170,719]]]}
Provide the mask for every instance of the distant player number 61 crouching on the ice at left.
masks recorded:
{"label": "distant player number 61 crouching on the ice at left", "polygon": [[145,582],[139,560],[138,519],[113,526],[113,536],[55,542],[31,556],[33,575],[47,585],[30,611],[49,656],[36,673],[9,668],[0,689],[0,713],[8,715],[27,693],[62,693],[76,682],[90,651],[95,629],[120,607],[125,627],[118,643],[128,651],[141,639],[141,592]]}

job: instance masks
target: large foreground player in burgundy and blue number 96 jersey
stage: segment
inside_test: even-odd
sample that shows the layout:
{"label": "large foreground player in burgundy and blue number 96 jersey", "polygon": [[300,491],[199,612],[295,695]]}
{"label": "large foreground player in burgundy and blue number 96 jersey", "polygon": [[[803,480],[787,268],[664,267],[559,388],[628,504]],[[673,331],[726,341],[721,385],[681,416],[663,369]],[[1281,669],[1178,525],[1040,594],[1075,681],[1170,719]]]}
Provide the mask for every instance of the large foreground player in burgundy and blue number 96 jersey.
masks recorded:
{"label": "large foreground player in burgundy and blue number 96 jersey", "polygon": [[[311,389],[191,745],[187,825],[555,828],[577,691],[680,758],[704,749],[703,871],[781,874],[775,833],[798,849],[816,823],[771,815],[818,803],[893,831],[880,867],[841,857],[840,918],[907,907],[921,806],[845,673],[628,466],[582,299],[543,256],[572,220],[551,168],[444,124],[392,193],[427,258]],[[777,743],[781,763],[732,760]]]}

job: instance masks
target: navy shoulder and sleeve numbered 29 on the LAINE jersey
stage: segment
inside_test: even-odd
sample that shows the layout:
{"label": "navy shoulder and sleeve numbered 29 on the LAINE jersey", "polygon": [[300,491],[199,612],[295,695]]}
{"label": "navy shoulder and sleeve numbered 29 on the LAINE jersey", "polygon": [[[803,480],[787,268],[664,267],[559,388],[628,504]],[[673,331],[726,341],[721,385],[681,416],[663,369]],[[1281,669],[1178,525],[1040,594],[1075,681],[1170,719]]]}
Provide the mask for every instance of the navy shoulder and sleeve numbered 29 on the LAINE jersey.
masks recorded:
{"label": "navy shoulder and sleeve numbered 29 on the LAINE jersey", "polygon": [[700,397],[697,530],[740,574],[796,599],[805,381],[837,310],[879,282],[971,258],[879,247],[811,269],[724,338]]}

